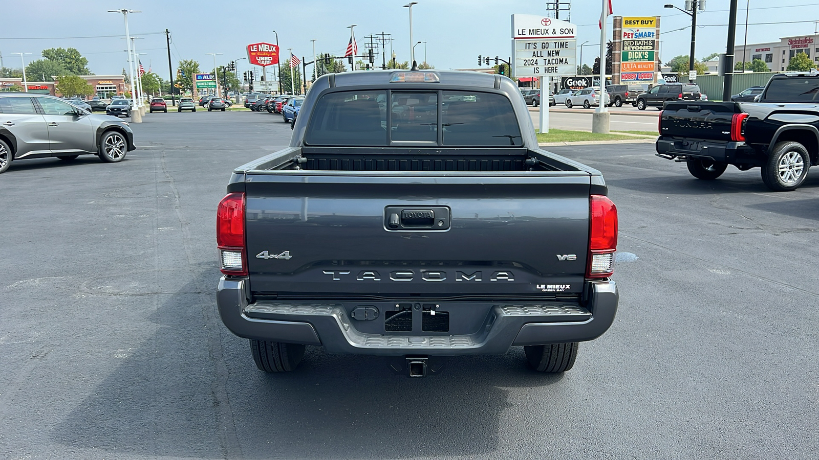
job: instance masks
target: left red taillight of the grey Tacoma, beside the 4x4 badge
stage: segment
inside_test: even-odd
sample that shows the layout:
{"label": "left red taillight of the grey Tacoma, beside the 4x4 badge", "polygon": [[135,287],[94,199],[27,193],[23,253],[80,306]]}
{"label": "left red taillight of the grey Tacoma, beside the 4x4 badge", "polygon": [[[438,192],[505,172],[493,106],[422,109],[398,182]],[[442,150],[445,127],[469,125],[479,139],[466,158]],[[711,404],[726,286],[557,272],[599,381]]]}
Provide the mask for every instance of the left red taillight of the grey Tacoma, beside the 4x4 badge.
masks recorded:
{"label": "left red taillight of the grey Tacoma, beside the 4x4 badge", "polygon": [[227,275],[247,275],[245,254],[245,194],[229,193],[216,209],[216,244],[220,269]]}

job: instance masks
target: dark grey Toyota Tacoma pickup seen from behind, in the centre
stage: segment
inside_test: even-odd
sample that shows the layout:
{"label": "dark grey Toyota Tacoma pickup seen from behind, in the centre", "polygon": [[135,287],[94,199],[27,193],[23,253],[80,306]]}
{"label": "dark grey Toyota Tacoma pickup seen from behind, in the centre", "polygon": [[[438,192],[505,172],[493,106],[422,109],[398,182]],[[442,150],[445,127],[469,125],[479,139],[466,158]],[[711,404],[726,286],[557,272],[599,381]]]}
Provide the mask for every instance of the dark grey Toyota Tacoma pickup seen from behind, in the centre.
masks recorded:
{"label": "dark grey Toyota Tacoma pickup seen from behind, in the centre", "polygon": [[504,354],[572,368],[611,326],[617,210],[599,171],[542,151],[512,80],[370,71],[316,80],[290,147],[219,203],[224,324],[256,366],[305,345],[391,357]]}

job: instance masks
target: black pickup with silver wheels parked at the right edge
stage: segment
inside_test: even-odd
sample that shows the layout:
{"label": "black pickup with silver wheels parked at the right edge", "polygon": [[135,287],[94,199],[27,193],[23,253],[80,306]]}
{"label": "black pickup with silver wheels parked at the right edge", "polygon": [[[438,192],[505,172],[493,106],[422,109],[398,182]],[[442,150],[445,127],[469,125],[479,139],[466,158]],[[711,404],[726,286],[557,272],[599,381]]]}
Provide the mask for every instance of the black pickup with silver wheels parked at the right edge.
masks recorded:
{"label": "black pickup with silver wheels parked at the right edge", "polygon": [[695,178],[758,166],[771,190],[795,190],[819,162],[819,74],[773,75],[753,102],[666,102],[659,133],[657,155]]}

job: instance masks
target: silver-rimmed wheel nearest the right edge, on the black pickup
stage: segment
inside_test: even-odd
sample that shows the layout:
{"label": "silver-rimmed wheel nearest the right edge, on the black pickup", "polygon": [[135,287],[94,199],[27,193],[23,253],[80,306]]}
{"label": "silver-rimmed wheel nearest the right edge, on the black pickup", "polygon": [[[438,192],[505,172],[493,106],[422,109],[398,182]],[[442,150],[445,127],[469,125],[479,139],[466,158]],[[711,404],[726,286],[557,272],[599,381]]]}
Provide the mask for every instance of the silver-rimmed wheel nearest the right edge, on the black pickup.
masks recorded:
{"label": "silver-rimmed wheel nearest the right edge, on the black pickup", "polygon": [[796,190],[808,177],[811,157],[799,142],[776,142],[762,166],[762,182],[774,192]]}

